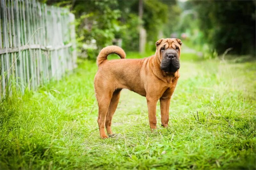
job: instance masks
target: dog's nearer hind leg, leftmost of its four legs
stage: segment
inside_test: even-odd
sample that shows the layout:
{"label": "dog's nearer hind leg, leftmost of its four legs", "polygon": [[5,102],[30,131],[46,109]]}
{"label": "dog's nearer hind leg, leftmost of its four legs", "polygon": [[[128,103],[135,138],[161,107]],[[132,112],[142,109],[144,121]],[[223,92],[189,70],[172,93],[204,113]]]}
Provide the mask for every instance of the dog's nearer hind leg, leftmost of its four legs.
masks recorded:
{"label": "dog's nearer hind leg, leftmost of its four legs", "polygon": [[99,106],[98,124],[100,129],[100,138],[103,139],[108,138],[105,132],[105,122],[111,97],[112,95],[106,93],[100,97],[97,97]]}

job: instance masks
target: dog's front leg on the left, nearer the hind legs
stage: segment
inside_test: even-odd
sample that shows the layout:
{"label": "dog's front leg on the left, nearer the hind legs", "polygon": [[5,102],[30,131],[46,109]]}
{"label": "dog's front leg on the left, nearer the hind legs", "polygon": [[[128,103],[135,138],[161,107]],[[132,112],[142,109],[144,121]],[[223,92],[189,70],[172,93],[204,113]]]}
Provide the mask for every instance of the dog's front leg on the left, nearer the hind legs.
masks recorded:
{"label": "dog's front leg on the left, nearer the hind legs", "polygon": [[156,103],[158,99],[146,97],[148,104],[148,120],[151,129],[156,129]]}

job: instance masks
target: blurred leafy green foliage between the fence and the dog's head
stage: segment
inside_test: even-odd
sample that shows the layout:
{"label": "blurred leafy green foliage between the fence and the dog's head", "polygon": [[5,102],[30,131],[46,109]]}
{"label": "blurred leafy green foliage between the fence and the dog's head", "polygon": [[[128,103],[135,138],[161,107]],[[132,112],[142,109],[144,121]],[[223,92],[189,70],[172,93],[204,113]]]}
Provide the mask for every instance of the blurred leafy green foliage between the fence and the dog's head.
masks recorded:
{"label": "blurred leafy green foliage between the fence and the dog's head", "polygon": [[[78,48],[81,53],[86,51],[92,57],[102,47],[111,45],[113,39],[119,38],[123,40],[125,50],[138,50],[140,23],[147,31],[147,41],[156,41],[158,32],[168,19],[167,6],[161,1],[143,1],[142,21],[138,18],[138,0],[46,2],[66,6],[76,15]],[[94,42],[95,46],[90,45]]]}

